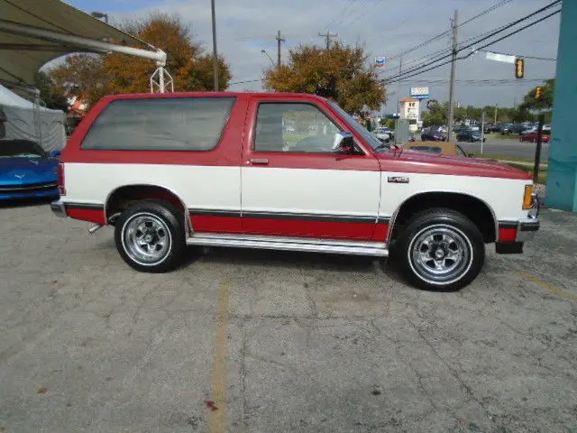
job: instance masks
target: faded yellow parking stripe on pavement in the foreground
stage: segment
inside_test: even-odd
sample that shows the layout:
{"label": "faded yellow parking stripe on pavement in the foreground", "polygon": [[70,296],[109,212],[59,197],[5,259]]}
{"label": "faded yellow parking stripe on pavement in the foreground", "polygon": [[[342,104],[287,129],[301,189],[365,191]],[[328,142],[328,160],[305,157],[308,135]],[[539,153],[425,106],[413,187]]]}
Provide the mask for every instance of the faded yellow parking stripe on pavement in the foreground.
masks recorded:
{"label": "faded yellow parking stripe on pavement in the foreground", "polygon": [[222,281],[218,296],[218,325],[215,334],[215,355],[211,401],[206,401],[208,409],[208,431],[224,433],[226,431],[226,340],[228,337],[228,307],[230,304],[230,283]]}

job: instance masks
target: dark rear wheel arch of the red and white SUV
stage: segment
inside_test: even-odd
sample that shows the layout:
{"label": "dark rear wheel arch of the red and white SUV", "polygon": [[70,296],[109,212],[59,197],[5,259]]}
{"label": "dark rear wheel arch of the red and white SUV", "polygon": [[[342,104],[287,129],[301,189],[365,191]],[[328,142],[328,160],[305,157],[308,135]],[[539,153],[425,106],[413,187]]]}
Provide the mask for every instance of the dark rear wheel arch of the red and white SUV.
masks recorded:
{"label": "dark rear wheel arch of the red and white SUV", "polygon": [[157,184],[126,184],[110,191],[105,198],[104,210],[106,223],[114,226],[114,219],[111,218],[122,212],[134,201],[142,201],[145,199],[166,201],[178,207],[183,212],[185,232],[187,234],[192,233],[192,224],[188,217],[188,207],[184,200],[182,200],[179,194],[173,189]]}

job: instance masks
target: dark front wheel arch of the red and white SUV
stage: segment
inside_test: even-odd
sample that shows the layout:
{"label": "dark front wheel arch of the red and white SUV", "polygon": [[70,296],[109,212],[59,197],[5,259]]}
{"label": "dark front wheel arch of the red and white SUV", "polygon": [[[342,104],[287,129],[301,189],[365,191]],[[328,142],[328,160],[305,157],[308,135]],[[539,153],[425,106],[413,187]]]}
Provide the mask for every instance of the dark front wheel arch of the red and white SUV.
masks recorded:
{"label": "dark front wheel arch of the red and white SUV", "polygon": [[[419,191],[405,200],[395,209],[390,218],[388,242],[395,240],[402,231],[404,223],[417,212],[431,207],[447,207],[462,213],[479,228],[485,244],[497,240],[498,220],[489,204],[472,194],[461,191]],[[487,218],[490,218],[487,221]]]}

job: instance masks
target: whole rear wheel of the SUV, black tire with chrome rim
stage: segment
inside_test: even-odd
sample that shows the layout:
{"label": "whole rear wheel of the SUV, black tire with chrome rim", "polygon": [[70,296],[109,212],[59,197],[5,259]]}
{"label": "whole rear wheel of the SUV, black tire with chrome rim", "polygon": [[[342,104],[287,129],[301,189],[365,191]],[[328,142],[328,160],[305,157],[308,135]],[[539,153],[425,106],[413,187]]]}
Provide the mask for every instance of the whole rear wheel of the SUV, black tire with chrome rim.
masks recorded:
{"label": "whole rear wheel of the SUV, black tire with chrome rim", "polygon": [[170,203],[137,203],[124,210],[115,222],[116,249],[124,262],[137,271],[171,271],[181,263],[186,249],[183,221],[182,211]]}

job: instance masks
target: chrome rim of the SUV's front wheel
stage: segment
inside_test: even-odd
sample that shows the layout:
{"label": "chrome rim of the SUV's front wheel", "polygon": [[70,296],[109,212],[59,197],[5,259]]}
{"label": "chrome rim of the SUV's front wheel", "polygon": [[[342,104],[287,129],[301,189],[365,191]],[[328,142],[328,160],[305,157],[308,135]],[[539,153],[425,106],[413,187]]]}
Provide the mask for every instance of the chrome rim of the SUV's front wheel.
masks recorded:
{"label": "chrome rim of the SUV's front wheel", "polygon": [[435,285],[451,284],[472,265],[472,244],[456,227],[428,226],[413,237],[408,260],[418,277]]}

